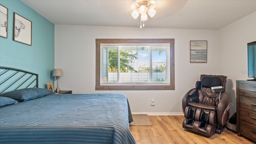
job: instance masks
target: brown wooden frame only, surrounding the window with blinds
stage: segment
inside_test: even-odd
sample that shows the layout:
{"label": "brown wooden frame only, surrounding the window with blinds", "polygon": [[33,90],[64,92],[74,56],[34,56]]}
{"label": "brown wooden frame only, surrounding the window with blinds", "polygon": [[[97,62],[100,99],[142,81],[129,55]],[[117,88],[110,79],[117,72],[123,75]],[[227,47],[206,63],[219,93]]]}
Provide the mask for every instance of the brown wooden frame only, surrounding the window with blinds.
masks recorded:
{"label": "brown wooden frame only, surrounding the window with blinds", "polygon": [[[101,44],[170,44],[170,85],[100,85],[100,45]],[[95,90],[175,90],[174,39],[96,39],[96,85]]]}

